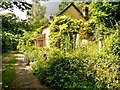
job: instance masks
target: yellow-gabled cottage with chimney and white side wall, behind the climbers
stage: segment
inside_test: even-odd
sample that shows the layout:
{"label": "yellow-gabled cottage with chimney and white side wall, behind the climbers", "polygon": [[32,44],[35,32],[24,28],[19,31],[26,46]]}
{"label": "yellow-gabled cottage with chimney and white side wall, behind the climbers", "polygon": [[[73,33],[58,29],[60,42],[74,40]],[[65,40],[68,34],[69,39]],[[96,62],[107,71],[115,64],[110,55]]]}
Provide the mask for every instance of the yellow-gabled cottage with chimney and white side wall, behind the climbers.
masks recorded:
{"label": "yellow-gabled cottage with chimney and white side wall, behind the climbers", "polygon": [[[72,12],[72,13],[71,13]],[[84,7],[83,8],[83,13],[80,12],[80,10],[74,5],[74,3],[70,3],[61,13],[59,13],[57,16],[62,16],[66,15],[72,19],[77,19],[77,20],[88,20],[88,8]],[[53,19],[53,16],[50,15],[50,20]],[[41,46],[41,47],[49,47],[49,34],[50,34],[50,28],[49,24],[44,26],[42,35],[38,36],[35,38],[35,45],[36,46]],[[57,47],[59,47],[59,43],[56,44]]]}

